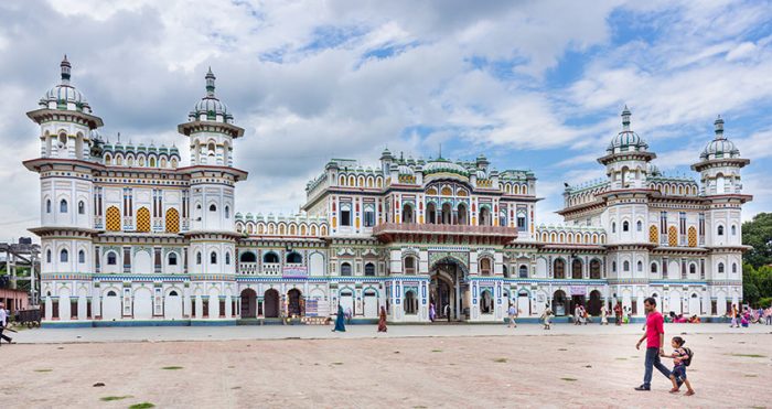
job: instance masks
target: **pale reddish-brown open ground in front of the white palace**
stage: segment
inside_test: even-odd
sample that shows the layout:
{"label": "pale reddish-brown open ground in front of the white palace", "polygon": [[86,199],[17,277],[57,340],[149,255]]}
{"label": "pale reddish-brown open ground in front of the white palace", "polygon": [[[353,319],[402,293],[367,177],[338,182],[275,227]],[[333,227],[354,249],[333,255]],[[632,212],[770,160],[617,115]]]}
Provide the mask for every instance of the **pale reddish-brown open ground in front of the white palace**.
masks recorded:
{"label": "pale reddish-brown open ground in front of the white palace", "polygon": [[[636,335],[2,345],[3,407],[765,407],[772,335],[684,335],[697,394]],[[668,337],[669,338],[669,337]],[[669,363],[668,363],[669,364]],[[95,387],[104,383],[104,387]],[[119,398],[104,400],[106,398]]]}

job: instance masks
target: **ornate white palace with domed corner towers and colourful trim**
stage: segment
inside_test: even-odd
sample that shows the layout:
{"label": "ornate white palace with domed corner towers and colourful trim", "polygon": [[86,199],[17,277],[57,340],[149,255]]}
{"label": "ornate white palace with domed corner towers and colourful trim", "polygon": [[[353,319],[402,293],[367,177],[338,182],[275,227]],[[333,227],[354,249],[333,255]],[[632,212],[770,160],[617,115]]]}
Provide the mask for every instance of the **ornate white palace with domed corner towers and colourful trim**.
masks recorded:
{"label": "ornate white palace with domed corner towers and colourful trim", "polygon": [[510,303],[536,317],[573,305],[598,314],[643,299],[715,316],[742,298],[741,169],[716,136],[693,170],[662,174],[622,112],[598,161],[608,177],[566,185],[565,225],[537,225],[536,177],[474,161],[404,159],[379,166],[332,159],[307,185],[302,213],[237,213],[234,125],[215,76],[175,147],[106,143],[103,120],[62,80],[28,112],[40,125],[42,300],[49,325],[235,324],[329,316],[339,304],[372,320],[498,322]]}

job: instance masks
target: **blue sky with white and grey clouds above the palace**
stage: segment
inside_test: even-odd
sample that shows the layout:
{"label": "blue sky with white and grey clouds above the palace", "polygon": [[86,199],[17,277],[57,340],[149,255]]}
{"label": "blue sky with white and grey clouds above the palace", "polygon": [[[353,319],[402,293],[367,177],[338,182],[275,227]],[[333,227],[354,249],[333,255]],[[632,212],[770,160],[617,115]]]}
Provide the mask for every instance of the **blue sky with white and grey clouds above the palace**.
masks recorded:
{"label": "blue sky with white and grey clouds above the palace", "polygon": [[559,223],[564,182],[604,177],[597,158],[621,129],[687,174],[714,137],[751,160],[743,218],[772,186],[770,1],[86,1],[0,2],[0,240],[40,224],[40,154],[25,112],[58,82],[101,117],[101,133],[146,144],[176,133],[217,96],[245,137],[242,213],[296,213],[330,158],[377,166],[380,151],[535,172],[537,223]]}

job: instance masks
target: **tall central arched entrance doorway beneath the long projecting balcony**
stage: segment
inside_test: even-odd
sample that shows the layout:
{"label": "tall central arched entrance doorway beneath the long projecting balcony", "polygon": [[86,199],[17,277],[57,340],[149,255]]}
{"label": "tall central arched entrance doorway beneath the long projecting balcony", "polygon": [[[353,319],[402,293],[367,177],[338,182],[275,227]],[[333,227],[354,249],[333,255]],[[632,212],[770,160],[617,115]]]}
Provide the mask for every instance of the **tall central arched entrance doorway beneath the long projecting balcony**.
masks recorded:
{"label": "tall central arched entrance doorway beneath the long projecting balcony", "polygon": [[467,269],[453,258],[436,261],[430,269],[429,301],[439,320],[462,320],[469,316],[469,284],[462,284]]}

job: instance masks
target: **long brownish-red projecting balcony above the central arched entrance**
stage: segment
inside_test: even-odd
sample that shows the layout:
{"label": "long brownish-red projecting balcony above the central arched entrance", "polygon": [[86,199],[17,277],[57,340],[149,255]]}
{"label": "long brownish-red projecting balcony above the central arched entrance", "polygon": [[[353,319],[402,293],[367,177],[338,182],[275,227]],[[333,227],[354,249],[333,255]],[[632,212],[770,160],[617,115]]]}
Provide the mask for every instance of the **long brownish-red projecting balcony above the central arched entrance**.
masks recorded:
{"label": "long brownish-red projecting balcony above the central arched entrance", "polygon": [[485,239],[508,243],[517,238],[516,227],[469,226],[418,223],[382,223],[373,228],[373,235],[385,241],[406,236],[441,236],[452,240]]}

